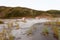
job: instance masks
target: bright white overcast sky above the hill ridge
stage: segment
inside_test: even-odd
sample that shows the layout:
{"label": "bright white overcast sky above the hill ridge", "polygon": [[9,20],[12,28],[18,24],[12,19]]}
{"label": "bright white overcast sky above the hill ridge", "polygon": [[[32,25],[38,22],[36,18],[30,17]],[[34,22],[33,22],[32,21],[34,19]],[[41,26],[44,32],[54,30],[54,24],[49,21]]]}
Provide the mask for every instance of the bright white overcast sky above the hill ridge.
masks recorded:
{"label": "bright white overcast sky above the hill ridge", "polygon": [[35,10],[60,10],[60,0],[0,0],[0,6],[20,6]]}

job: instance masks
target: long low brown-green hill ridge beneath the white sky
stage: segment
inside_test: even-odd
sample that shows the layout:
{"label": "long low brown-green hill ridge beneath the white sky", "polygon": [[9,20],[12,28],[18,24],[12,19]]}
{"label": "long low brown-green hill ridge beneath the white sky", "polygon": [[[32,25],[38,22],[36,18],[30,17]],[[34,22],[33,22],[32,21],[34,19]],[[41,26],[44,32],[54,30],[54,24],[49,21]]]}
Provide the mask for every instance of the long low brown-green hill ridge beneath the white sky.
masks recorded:
{"label": "long low brown-green hill ridge beneath the white sky", "polygon": [[21,18],[21,17],[60,17],[60,10],[39,11],[24,7],[0,6],[0,18]]}

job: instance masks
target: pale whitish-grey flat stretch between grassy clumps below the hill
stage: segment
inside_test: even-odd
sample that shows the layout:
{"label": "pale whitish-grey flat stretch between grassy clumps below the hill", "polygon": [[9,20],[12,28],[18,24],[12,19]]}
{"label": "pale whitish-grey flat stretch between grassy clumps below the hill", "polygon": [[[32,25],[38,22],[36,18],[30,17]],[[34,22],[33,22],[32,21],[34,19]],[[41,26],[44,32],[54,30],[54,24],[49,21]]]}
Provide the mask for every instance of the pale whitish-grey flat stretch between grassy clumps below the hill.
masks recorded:
{"label": "pale whitish-grey flat stretch between grassy clumps below the hill", "polygon": [[[44,37],[40,33],[44,29],[44,22],[48,22],[51,20],[47,20],[46,18],[41,19],[26,19],[26,22],[21,21],[22,19],[5,19],[3,20],[5,24],[0,24],[0,32],[3,30],[4,26],[7,26],[8,23],[13,23],[13,26],[19,24],[19,29],[12,28],[12,35],[15,37],[14,40],[56,40],[51,36]],[[26,31],[30,29],[32,26],[36,26],[37,30],[34,32],[34,35],[27,36]]]}

